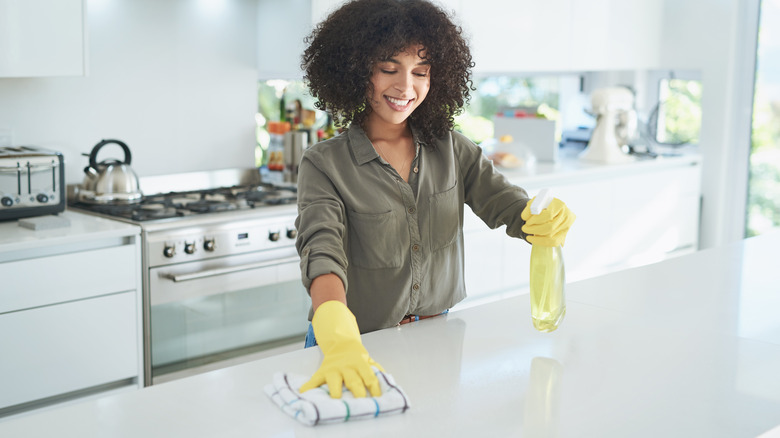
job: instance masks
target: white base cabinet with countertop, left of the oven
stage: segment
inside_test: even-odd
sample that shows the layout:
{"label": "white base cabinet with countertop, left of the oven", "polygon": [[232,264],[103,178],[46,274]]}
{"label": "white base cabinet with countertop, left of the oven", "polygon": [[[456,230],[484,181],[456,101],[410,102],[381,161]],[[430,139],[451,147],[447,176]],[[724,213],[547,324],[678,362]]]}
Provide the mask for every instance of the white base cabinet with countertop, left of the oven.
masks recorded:
{"label": "white base cabinet with countertop, left of the oven", "polygon": [[142,379],[140,229],[0,223],[0,416]]}

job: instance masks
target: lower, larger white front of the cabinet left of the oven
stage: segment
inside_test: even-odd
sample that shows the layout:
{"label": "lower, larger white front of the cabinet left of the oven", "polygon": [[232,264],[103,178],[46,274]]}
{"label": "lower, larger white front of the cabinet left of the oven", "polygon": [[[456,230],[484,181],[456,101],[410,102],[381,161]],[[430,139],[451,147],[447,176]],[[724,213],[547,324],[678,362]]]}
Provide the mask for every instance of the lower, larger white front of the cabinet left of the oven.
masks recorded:
{"label": "lower, larger white front of the cabinet left of the oven", "polygon": [[139,375],[136,292],[0,315],[0,409]]}

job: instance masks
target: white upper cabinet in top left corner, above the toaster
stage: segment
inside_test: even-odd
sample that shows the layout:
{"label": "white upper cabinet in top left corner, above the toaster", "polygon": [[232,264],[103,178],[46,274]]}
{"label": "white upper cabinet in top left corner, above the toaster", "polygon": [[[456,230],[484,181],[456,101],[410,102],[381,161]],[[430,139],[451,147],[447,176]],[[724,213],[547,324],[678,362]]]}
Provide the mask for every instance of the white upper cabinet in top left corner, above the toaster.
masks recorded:
{"label": "white upper cabinet in top left corner, above the toaster", "polygon": [[0,77],[83,76],[83,0],[0,0]]}

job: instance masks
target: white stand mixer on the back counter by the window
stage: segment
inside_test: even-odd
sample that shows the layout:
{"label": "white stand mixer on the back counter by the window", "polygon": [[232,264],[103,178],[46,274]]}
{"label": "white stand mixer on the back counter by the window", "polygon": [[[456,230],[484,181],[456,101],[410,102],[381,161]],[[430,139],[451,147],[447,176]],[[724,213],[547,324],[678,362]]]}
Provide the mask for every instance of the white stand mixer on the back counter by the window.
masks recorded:
{"label": "white stand mixer on the back counter by the window", "polygon": [[626,144],[625,132],[633,130],[625,125],[633,123],[634,129],[636,126],[634,95],[631,91],[623,87],[599,88],[591,94],[591,105],[598,117],[596,128],[593,129],[588,147],[580,153],[580,159],[607,164],[634,161],[634,157],[622,150]]}

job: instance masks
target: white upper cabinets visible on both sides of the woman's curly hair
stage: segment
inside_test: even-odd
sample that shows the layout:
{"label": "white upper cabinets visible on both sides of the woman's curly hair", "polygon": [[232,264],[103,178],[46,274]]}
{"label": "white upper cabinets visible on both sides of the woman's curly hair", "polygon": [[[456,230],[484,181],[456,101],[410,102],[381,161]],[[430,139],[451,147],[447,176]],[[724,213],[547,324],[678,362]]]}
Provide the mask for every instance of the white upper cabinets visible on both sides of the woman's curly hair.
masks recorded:
{"label": "white upper cabinets visible on both sides of the woman's curly hair", "polygon": [[[659,66],[658,0],[433,0],[453,12],[478,74]],[[299,78],[303,38],[344,0],[260,0],[261,78]]]}

